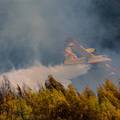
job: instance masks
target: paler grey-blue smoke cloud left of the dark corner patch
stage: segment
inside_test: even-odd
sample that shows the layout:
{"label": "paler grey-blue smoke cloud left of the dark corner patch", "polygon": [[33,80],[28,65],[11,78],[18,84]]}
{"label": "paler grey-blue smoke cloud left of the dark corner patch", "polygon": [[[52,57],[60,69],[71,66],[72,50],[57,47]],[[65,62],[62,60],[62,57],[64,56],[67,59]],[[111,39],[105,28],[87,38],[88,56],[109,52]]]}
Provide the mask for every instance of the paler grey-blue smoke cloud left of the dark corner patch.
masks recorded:
{"label": "paler grey-blue smoke cloud left of the dark corner patch", "polygon": [[66,38],[89,43],[97,21],[91,0],[1,0],[0,6],[2,71],[11,64],[29,66],[36,59],[44,64],[62,62]]}

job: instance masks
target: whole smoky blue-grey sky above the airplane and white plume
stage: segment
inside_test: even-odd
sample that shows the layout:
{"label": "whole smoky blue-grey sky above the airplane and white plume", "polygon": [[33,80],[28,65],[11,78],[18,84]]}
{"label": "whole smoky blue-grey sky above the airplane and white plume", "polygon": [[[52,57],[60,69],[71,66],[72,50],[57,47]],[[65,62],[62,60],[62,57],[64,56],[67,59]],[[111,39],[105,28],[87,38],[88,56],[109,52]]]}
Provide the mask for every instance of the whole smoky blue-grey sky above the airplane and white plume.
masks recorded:
{"label": "whole smoky blue-grey sky above the airplane and white plume", "polygon": [[0,0],[0,72],[61,64],[68,38],[120,66],[119,30],[119,0]]}

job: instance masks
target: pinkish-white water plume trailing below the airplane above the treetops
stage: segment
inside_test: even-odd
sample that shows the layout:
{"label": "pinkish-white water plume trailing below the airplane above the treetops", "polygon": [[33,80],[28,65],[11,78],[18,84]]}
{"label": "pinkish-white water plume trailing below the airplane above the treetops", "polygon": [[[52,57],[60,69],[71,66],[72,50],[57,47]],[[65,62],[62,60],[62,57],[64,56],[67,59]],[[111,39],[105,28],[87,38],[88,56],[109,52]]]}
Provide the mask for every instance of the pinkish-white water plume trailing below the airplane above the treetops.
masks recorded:
{"label": "pinkish-white water plume trailing below the airplane above the treetops", "polygon": [[61,82],[65,87],[70,84],[70,80],[82,74],[87,73],[90,66],[88,65],[57,65],[57,66],[43,66],[37,65],[28,69],[20,69],[4,73],[0,76],[0,83],[4,82],[4,76],[10,81],[13,88],[19,85],[21,88],[25,86],[37,90],[44,86],[48,75],[53,75],[56,80]]}

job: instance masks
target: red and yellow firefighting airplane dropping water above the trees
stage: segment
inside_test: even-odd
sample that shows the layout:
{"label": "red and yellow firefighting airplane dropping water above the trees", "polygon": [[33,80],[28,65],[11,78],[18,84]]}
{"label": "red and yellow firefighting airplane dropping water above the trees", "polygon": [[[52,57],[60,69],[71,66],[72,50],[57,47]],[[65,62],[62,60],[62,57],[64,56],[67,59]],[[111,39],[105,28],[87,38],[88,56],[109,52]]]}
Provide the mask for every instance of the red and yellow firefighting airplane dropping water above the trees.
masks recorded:
{"label": "red and yellow firefighting airplane dropping water above the trees", "polygon": [[94,48],[85,48],[76,41],[68,43],[64,50],[65,65],[72,64],[97,64],[112,61],[106,55],[95,55]]}

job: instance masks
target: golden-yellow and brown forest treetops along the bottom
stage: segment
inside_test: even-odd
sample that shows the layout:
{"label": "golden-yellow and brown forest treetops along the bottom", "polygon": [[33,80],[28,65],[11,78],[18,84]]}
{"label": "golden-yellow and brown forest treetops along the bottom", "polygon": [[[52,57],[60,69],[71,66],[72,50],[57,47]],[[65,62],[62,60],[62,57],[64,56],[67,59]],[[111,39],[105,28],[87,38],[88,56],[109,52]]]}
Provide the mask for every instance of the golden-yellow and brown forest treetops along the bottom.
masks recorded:
{"label": "golden-yellow and brown forest treetops along the bottom", "polygon": [[0,87],[0,120],[120,120],[120,85],[106,80],[96,92],[64,88],[48,76],[45,88],[14,91],[5,78]]}

